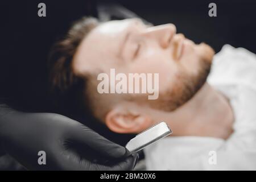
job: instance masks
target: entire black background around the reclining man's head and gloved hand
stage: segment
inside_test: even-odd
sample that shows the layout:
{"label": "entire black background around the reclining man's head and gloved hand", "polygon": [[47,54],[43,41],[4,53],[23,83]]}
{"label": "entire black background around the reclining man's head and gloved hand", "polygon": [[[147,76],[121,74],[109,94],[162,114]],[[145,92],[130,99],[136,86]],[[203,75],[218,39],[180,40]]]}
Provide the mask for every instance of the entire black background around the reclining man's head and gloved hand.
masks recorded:
{"label": "entire black background around the reclining man's head and gloved hand", "polygon": [[[40,2],[46,3],[44,18],[38,16]],[[217,17],[208,16],[210,2],[217,4]],[[254,1],[1,1],[0,96],[9,98],[17,109],[58,112],[47,94],[49,49],[74,20],[85,15],[97,17],[102,3],[126,7],[156,25],[174,23],[177,32],[196,43],[210,44],[216,52],[224,44],[256,52]],[[91,118],[80,115],[75,119],[118,143],[126,143],[105,127],[94,125]]]}

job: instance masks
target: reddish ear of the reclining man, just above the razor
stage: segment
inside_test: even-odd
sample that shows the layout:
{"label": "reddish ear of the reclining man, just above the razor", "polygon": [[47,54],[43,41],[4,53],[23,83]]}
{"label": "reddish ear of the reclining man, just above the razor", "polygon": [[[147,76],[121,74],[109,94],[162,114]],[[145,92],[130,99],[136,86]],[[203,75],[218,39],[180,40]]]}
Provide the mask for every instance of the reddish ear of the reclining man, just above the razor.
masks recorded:
{"label": "reddish ear of the reclining man, just above the razor", "polygon": [[129,108],[118,107],[109,111],[106,125],[116,133],[141,133],[151,126],[151,118]]}

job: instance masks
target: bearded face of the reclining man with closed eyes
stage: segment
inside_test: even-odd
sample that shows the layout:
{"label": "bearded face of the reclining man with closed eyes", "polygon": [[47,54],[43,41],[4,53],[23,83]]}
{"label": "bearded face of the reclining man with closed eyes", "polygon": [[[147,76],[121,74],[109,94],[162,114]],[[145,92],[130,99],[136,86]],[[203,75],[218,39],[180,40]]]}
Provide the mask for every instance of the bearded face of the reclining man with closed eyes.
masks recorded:
{"label": "bearded face of the reclining man with closed eyes", "polygon": [[[187,102],[204,84],[214,51],[176,34],[174,24],[148,27],[138,19],[100,24],[83,40],[73,59],[77,75],[159,73],[159,98],[143,104],[171,111]],[[97,87],[91,92],[97,92]],[[110,94],[111,95],[111,94]],[[116,94],[112,100],[119,100]],[[125,98],[125,97],[123,97]],[[146,96],[144,98],[147,98]]]}

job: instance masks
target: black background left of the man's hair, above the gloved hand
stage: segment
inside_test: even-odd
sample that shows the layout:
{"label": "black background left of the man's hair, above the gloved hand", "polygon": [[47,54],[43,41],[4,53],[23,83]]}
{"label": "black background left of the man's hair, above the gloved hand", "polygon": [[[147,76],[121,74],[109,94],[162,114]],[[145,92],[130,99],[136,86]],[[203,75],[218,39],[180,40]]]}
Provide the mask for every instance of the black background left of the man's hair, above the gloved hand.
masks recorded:
{"label": "black background left of the man's hair, above the gloved hand", "polygon": [[[46,17],[38,4],[46,3]],[[94,1],[1,2],[1,95],[30,110],[47,110],[47,59],[52,44],[74,20],[96,16]]]}

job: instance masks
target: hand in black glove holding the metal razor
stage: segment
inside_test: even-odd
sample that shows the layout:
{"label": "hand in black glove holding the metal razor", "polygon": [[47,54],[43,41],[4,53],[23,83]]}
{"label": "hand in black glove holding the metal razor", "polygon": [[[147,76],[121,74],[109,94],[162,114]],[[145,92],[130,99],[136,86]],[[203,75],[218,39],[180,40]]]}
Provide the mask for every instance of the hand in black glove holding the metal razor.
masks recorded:
{"label": "hand in black glove holding the metal razor", "polygon": [[[131,170],[138,158],[73,119],[22,113],[6,105],[0,105],[0,141],[8,154],[33,170]],[[39,165],[39,151],[46,152],[46,165]]]}

